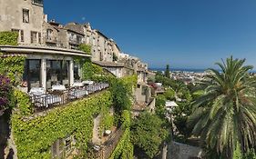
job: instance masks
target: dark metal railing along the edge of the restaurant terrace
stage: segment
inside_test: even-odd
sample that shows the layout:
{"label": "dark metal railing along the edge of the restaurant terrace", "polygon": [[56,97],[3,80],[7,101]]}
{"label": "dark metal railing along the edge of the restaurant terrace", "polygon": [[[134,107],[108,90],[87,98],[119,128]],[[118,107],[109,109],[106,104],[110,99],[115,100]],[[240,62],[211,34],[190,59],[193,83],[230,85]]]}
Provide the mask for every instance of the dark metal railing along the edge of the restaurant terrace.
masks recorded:
{"label": "dark metal railing along the edge of the restaurant terrace", "polygon": [[54,106],[67,104],[71,101],[84,98],[88,94],[94,94],[108,88],[109,84],[89,84],[83,87],[71,87],[66,91],[51,91],[46,94],[30,95],[36,112],[44,111]]}

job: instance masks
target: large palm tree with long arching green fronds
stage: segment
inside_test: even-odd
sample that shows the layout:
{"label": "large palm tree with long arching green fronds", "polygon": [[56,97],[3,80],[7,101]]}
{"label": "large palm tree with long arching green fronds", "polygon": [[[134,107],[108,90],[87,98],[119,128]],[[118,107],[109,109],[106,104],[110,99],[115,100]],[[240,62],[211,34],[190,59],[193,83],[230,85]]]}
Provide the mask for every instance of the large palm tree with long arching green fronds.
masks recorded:
{"label": "large palm tree with long arching green fronds", "polygon": [[209,150],[231,158],[237,144],[243,152],[256,145],[256,81],[244,66],[245,59],[227,58],[216,63],[221,72],[209,69],[209,78],[200,83],[204,94],[194,103],[189,117],[193,134]]}

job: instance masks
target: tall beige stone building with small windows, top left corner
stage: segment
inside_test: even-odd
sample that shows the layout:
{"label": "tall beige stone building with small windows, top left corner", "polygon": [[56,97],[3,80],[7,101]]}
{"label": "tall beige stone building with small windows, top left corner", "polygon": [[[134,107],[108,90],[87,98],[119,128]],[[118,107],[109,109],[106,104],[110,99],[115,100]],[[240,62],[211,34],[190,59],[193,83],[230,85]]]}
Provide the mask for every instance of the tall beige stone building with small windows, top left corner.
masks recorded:
{"label": "tall beige stone building with small windows, top left corner", "polygon": [[43,0],[0,0],[0,31],[15,31],[20,45],[42,43]]}

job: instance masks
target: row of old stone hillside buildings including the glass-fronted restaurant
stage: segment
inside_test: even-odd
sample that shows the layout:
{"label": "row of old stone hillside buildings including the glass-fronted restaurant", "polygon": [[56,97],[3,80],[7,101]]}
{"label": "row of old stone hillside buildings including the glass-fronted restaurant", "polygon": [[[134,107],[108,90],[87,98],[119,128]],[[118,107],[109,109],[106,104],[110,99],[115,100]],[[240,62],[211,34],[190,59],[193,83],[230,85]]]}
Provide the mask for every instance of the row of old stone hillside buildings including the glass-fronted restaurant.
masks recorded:
{"label": "row of old stone hillside buildings including the glass-fronted restaurant", "polygon": [[[19,34],[19,46],[0,46],[0,49],[26,55],[24,81],[28,83],[28,91],[38,86],[49,89],[56,83],[72,85],[79,80],[81,66],[75,65],[74,56],[101,62],[99,65],[118,77],[135,73],[138,83],[147,83],[148,65],[137,57],[121,54],[113,39],[88,23],[61,25],[55,20],[48,22],[43,0],[0,0],[0,4],[0,31]],[[80,44],[91,45],[91,55],[77,51]]]}

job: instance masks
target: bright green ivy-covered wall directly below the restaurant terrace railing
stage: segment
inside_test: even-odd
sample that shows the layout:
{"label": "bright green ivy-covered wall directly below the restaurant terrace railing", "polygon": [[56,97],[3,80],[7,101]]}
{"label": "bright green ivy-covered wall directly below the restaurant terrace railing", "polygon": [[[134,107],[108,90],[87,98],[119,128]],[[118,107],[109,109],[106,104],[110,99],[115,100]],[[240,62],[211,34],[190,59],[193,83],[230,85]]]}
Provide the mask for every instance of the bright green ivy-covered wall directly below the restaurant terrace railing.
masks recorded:
{"label": "bright green ivy-covered wall directly below the restaurant terrace railing", "polygon": [[[81,99],[50,110],[45,116],[24,120],[24,115],[12,115],[12,131],[18,158],[51,158],[50,147],[59,138],[74,134],[77,148],[86,152],[92,138],[93,118],[101,108],[110,107],[109,91]],[[85,157],[85,156],[84,156]],[[86,158],[86,157],[85,157]]]}

